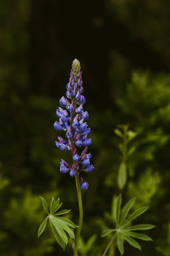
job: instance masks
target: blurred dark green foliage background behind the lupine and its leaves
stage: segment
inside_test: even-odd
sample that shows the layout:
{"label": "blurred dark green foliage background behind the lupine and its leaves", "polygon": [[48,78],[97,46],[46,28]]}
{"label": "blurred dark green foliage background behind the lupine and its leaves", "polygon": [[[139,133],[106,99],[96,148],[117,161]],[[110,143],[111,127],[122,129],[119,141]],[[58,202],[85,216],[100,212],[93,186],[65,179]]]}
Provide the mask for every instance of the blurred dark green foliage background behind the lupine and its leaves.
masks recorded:
{"label": "blurred dark green foliage background behind the lupine and its leaves", "polygon": [[108,243],[102,228],[114,228],[107,216],[120,193],[119,124],[137,132],[123,203],[137,196],[136,208],[150,206],[138,222],[157,226],[146,233],[153,242],[141,242],[141,252],[125,243],[124,255],[170,255],[169,13],[169,0],[0,1],[1,256],[72,255],[50,229],[40,238],[37,231],[45,216],[39,195],[60,197],[77,223],[75,180],[59,171],[70,155],[55,147],[53,129],[74,58],[83,71],[95,166],[84,174],[80,255],[101,256]]}

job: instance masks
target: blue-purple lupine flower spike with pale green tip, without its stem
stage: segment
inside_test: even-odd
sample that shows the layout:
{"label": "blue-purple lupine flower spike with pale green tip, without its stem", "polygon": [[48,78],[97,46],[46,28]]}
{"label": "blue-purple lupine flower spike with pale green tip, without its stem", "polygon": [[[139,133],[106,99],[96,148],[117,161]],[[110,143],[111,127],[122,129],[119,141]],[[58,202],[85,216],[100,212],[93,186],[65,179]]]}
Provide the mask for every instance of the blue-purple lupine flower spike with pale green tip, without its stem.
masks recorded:
{"label": "blue-purple lupine flower spike with pale green tip, without its stem", "polygon": [[[69,171],[71,177],[74,177],[80,171],[89,173],[94,169],[94,166],[90,163],[92,155],[91,153],[87,154],[88,146],[91,145],[91,139],[88,138],[91,128],[88,127],[86,122],[89,117],[88,112],[83,110],[86,99],[82,95],[84,88],[80,68],[79,61],[75,59],[72,64],[69,82],[66,85],[66,97],[68,99],[64,96],[60,99],[61,107],[56,111],[59,121],[54,123],[55,130],[64,130],[67,138],[66,142],[62,137],[58,137],[58,141],[55,141],[57,148],[71,151],[73,157],[72,167],[61,159],[60,172],[67,173]],[[85,148],[82,153],[78,154],[77,148],[82,146],[85,146]],[[79,164],[82,166],[81,170]],[[88,189],[88,182],[83,182],[82,177],[80,187],[83,190]]]}

